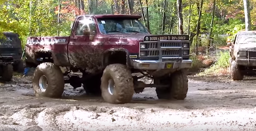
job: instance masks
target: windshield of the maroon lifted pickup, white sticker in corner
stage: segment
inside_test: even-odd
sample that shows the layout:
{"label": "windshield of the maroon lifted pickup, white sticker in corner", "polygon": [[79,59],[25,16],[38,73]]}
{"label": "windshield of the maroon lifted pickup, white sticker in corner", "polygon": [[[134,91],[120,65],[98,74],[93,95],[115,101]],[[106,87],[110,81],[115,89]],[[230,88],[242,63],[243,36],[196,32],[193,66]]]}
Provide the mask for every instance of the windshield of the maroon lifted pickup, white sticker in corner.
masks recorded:
{"label": "windshield of the maroon lifted pickup, white sticker in corner", "polygon": [[98,24],[102,34],[132,32],[148,34],[146,28],[137,19],[98,19]]}

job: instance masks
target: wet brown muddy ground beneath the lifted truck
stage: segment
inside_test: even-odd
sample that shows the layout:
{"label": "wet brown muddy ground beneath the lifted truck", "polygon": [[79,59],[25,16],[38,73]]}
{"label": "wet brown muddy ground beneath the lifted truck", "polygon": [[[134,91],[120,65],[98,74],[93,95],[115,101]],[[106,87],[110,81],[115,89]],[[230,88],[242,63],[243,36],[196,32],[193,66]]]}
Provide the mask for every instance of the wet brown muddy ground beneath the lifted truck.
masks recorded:
{"label": "wet brown muddy ground beneath the lifted truck", "polygon": [[189,78],[184,101],[158,100],[155,88],[145,88],[123,105],[88,97],[83,88],[72,89],[68,84],[62,99],[38,98],[33,96],[30,77],[14,78],[0,85],[0,130],[256,130],[255,80]]}

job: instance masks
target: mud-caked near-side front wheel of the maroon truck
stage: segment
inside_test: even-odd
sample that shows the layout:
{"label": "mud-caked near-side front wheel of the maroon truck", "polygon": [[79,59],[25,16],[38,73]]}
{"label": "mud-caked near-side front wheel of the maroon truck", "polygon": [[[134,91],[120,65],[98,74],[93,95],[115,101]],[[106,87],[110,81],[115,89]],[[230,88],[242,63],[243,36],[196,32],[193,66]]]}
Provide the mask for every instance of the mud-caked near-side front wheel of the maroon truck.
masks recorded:
{"label": "mud-caked near-side front wheel of the maroon truck", "polygon": [[101,78],[103,99],[108,103],[129,103],[133,97],[134,87],[131,71],[126,65],[108,65]]}

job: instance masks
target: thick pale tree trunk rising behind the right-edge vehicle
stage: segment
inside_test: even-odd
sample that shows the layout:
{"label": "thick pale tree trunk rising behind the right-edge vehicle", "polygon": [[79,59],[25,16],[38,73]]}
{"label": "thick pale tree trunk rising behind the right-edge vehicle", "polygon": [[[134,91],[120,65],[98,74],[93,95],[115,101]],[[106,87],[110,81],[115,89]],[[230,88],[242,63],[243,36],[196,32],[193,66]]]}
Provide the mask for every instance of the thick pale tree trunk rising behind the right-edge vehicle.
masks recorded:
{"label": "thick pale tree trunk rising behind the right-edge vehicle", "polygon": [[251,30],[251,14],[249,0],[243,0],[244,16],[245,16],[245,30]]}

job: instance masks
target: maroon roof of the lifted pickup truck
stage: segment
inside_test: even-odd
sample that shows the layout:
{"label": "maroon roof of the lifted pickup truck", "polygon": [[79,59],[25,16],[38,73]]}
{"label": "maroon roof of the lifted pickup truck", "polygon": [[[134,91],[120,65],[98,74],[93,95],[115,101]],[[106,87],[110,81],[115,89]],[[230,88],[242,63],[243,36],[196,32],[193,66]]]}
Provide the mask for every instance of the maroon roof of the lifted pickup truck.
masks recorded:
{"label": "maroon roof of the lifted pickup truck", "polygon": [[[141,18],[140,15],[131,15],[131,14],[93,14],[93,15],[82,15],[82,16],[92,16],[95,18]],[[80,16],[77,16],[80,17]]]}

